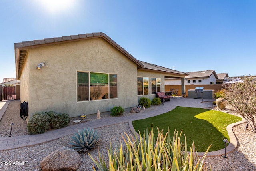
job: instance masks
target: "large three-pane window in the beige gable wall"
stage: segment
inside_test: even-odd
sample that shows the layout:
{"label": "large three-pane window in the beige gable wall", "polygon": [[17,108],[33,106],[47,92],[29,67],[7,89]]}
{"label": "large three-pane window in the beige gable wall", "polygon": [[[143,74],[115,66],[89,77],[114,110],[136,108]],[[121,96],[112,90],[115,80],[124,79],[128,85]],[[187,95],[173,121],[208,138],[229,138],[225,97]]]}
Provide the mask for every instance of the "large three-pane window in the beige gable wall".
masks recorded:
{"label": "large three-pane window in the beige gable wall", "polygon": [[77,72],[77,101],[112,98],[117,98],[117,74]]}

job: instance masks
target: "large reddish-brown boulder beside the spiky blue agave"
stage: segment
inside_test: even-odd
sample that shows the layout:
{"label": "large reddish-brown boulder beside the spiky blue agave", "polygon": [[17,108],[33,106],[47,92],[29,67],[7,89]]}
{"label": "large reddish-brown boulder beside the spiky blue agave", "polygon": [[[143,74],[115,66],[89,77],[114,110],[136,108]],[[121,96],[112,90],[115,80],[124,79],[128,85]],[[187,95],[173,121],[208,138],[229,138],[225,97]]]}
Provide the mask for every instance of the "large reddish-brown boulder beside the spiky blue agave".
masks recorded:
{"label": "large reddish-brown boulder beside the spiky blue agave", "polygon": [[75,171],[81,165],[81,158],[74,149],[60,147],[46,156],[40,164],[43,171]]}

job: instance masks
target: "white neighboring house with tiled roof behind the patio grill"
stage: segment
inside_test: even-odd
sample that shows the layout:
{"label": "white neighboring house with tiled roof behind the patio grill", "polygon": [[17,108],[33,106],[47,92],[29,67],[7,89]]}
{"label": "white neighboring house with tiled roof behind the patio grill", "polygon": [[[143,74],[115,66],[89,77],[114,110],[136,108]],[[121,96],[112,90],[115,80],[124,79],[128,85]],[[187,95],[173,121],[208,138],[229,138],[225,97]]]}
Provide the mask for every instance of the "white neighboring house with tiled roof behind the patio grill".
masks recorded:
{"label": "white neighboring house with tiled roof behind the patio grill", "polygon": [[[187,72],[188,76],[185,76],[186,85],[206,85],[206,84],[216,84],[218,76],[214,70],[207,71],[196,71]],[[165,85],[181,85],[180,78],[167,78],[165,79]]]}

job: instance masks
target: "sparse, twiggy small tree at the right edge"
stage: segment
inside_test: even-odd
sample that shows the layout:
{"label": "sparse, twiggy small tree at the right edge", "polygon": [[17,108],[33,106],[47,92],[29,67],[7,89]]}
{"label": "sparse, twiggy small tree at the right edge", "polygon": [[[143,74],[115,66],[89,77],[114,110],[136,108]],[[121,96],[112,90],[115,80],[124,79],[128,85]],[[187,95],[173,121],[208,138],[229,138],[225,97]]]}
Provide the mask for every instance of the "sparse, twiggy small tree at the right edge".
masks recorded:
{"label": "sparse, twiggy small tree at the right edge", "polygon": [[256,132],[256,80],[251,76],[242,78],[239,82],[224,84],[225,97],[228,103],[246,120]]}

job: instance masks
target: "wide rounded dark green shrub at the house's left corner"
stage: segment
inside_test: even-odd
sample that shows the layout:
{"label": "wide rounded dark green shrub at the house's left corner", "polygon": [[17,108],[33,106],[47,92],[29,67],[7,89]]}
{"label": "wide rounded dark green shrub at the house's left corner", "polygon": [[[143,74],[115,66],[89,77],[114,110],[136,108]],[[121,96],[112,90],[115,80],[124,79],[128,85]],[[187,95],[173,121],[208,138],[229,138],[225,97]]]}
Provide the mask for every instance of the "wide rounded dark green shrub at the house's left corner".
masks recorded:
{"label": "wide rounded dark green shrub at the house's left corner", "polygon": [[39,134],[50,129],[59,129],[69,125],[68,113],[54,111],[38,112],[28,120],[28,133]]}

